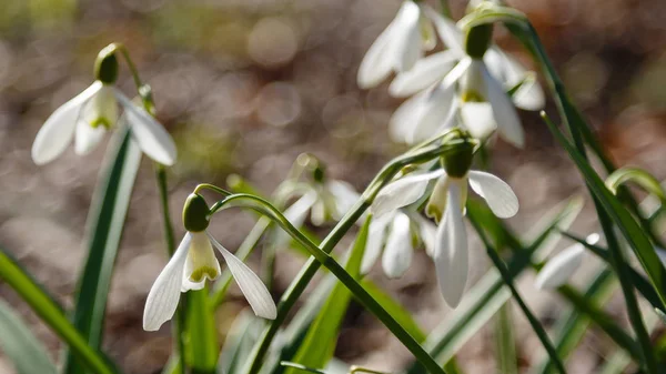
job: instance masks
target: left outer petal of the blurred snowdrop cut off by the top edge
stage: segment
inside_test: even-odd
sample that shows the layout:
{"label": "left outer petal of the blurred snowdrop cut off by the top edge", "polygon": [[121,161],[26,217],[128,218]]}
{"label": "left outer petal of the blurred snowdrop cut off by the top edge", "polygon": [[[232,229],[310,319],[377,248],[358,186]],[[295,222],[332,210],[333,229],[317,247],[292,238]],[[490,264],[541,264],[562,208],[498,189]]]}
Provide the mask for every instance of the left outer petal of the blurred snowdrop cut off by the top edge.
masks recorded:
{"label": "left outer petal of the blurred snowdrop cut off by the top edge", "polygon": [[356,75],[356,83],[362,90],[373,88],[380,84],[384,79],[391,74],[393,70],[394,61],[391,59],[393,55],[389,55],[390,44],[393,39],[393,31],[395,30],[395,23],[392,22],[382,31],[377,39],[370,46],[367,52],[361,60],[359,67],[359,73]]}

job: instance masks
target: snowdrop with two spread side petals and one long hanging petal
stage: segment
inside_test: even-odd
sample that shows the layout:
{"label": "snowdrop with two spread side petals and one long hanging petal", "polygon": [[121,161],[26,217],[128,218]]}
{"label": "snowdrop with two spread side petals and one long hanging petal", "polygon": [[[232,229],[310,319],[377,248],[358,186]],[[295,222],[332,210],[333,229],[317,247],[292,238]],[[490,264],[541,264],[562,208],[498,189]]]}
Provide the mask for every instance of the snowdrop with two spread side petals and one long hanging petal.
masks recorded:
{"label": "snowdrop with two spread side petals and one long hanging petal", "polygon": [[493,174],[470,170],[472,148],[467,140],[457,143],[443,156],[444,169],[397,179],[382,189],[371,206],[379,218],[410,205],[436,180],[426,214],[438,223],[433,260],[440,290],[452,307],[458,305],[467,282],[467,235],[463,222],[467,185],[487,202],[496,216],[511,218],[518,211],[518,200],[508,184]]}

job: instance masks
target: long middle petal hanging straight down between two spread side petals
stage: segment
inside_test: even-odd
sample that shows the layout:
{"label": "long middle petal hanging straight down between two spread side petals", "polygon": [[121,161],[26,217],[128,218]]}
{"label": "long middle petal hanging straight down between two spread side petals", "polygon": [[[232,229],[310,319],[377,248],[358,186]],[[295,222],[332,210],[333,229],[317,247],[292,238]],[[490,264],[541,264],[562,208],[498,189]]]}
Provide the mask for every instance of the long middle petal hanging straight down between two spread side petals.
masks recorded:
{"label": "long middle petal hanging straight down between two spread side petals", "polygon": [[467,233],[463,222],[458,183],[451,183],[444,220],[437,228],[435,269],[440,291],[451,307],[456,307],[467,283]]}

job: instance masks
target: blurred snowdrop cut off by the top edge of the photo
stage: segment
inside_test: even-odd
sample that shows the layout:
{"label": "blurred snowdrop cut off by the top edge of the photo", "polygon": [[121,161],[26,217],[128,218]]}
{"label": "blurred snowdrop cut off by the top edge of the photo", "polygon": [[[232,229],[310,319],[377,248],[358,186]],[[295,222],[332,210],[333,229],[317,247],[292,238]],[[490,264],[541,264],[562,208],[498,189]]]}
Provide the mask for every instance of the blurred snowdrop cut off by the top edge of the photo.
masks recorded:
{"label": "blurred snowdrop cut off by the top edge of the photo", "polygon": [[400,7],[393,21],[372,43],[359,67],[357,83],[361,89],[377,85],[391,72],[408,71],[423,51],[435,47],[432,23],[423,14],[423,9],[414,1],[406,0]]}

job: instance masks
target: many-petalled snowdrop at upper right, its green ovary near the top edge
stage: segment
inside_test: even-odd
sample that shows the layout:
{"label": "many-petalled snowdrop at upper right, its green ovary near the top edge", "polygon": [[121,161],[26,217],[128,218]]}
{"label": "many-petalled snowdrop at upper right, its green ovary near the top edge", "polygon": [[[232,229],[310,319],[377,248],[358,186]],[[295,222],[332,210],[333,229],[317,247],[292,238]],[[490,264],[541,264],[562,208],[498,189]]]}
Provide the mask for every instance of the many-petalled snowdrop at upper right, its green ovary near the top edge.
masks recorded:
{"label": "many-petalled snowdrop at upper right, its green ovary near the top edge", "polygon": [[[452,21],[432,9],[425,11],[450,50],[418,61],[392,82],[389,90],[395,97],[420,92],[392,117],[392,138],[418,142],[453,127],[460,119],[462,127],[477,139],[487,138],[496,129],[504,140],[522,148],[524,133],[514,105],[537,110],[545,100],[534,75],[491,46],[492,26],[472,28],[463,36]],[[509,98],[506,91],[515,87],[518,88]]]}

